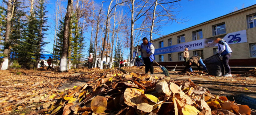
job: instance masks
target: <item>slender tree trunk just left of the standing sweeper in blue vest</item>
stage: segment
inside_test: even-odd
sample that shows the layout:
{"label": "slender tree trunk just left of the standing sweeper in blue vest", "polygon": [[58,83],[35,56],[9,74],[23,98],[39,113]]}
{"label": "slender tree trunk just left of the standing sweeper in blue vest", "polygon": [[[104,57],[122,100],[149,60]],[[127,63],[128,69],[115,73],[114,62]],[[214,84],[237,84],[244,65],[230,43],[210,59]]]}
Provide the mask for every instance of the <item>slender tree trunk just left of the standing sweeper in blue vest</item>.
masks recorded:
{"label": "slender tree trunk just left of the standing sweeper in blue vest", "polygon": [[131,10],[131,30],[130,30],[130,66],[132,65],[132,59],[133,59],[133,34],[134,34],[134,0],[131,0],[132,2],[132,10]]}

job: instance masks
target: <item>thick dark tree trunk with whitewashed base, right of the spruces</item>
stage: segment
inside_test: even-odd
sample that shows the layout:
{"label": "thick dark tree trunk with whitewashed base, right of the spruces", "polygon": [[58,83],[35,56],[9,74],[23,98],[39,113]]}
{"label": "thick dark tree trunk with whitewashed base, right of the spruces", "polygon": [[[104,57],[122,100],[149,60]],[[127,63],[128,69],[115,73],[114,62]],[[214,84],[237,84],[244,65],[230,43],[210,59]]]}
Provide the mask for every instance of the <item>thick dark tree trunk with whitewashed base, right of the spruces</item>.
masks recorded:
{"label": "thick dark tree trunk with whitewashed base, right of the spruces", "polygon": [[68,71],[67,68],[67,59],[68,59],[68,51],[69,51],[69,25],[70,25],[70,17],[72,13],[72,5],[73,0],[68,0],[67,13],[65,16],[65,25],[64,25],[64,37],[63,37],[63,45],[62,45],[62,53],[61,53],[61,65],[60,71]]}

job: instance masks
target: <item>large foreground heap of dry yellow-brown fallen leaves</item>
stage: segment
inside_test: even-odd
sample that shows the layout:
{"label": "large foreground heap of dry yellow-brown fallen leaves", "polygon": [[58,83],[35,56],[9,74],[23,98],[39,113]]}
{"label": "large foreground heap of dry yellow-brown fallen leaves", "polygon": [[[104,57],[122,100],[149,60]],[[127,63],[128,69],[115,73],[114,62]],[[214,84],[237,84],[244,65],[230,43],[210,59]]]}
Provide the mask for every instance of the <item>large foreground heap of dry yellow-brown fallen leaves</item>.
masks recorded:
{"label": "large foreground heap of dry yellow-brown fallen leaves", "polygon": [[[113,72],[115,72],[113,74]],[[247,105],[211,95],[189,81],[107,71],[82,86],[40,95],[30,115],[250,115]],[[17,105],[19,106],[19,105]]]}

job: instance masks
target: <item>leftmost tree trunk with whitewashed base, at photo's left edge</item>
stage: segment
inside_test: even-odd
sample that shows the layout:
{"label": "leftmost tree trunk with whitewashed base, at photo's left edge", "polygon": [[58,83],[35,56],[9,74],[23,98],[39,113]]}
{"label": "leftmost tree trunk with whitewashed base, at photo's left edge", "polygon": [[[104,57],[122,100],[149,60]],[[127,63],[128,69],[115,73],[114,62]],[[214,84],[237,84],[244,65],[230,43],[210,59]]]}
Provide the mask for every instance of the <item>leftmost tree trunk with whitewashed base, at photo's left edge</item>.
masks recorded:
{"label": "leftmost tree trunk with whitewashed base, at photo's left edge", "polygon": [[7,21],[6,21],[6,31],[4,35],[4,61],[1,67],[1,70],[7,70],[8,69],[8,57],[9,57],[9,36],[11,32],[11,18],[12,16],[12,0],[8,0],[8,5],[7,5]]}

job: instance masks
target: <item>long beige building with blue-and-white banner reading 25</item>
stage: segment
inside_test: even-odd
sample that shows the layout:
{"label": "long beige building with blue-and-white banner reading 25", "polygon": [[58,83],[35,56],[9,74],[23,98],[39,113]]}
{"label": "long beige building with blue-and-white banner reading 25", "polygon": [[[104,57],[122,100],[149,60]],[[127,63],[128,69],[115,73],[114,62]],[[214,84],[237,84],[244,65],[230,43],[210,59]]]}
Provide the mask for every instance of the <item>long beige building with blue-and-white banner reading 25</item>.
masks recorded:
{"label": "long beige building with blue-and-white banner reading 25", "polygon": [[217,52],[215,36],[232,49],[230,66],[256,66],[256,4],[153,40],[155,60],[181,66],[185,48],[204,60]]}

